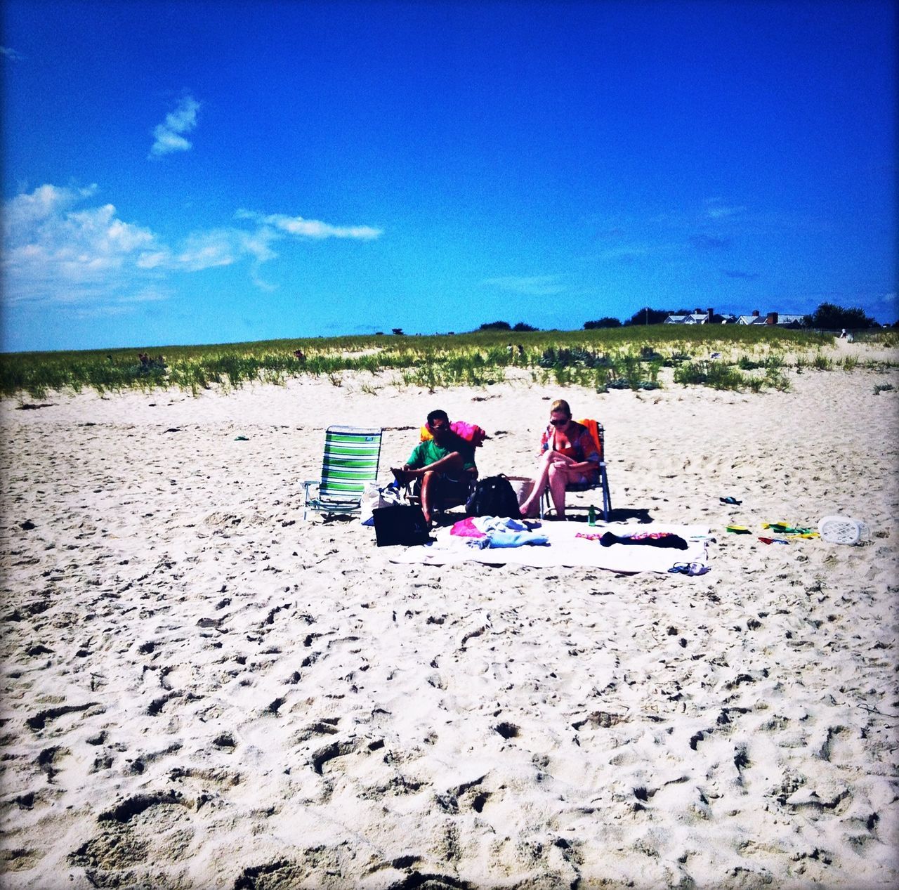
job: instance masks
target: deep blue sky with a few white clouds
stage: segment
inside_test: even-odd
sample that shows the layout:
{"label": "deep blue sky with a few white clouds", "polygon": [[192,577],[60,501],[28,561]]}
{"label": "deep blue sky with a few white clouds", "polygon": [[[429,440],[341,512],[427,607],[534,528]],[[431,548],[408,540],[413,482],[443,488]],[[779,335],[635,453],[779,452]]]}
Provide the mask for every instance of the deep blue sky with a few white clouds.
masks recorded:
{"label": "deep blue sky with a few white clouds", "polygon": [[896,304],[896,4],[4,0],[4,351]]}

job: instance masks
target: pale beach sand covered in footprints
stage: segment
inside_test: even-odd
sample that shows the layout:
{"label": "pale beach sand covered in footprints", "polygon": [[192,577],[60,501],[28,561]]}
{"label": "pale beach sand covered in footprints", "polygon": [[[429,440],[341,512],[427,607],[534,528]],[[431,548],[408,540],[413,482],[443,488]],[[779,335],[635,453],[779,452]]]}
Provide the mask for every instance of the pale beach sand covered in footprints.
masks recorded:
{"label": "pale beach sand covered in footprints", "polygon": [[[899,374],[790,382],[4,401],[3,886],[894,886]],[[331,423],[386,428],[387,481],[442,407],[528,475],[557,396],[709,574],[302,520]],[[835,513],[863,546],[759,540]]]}

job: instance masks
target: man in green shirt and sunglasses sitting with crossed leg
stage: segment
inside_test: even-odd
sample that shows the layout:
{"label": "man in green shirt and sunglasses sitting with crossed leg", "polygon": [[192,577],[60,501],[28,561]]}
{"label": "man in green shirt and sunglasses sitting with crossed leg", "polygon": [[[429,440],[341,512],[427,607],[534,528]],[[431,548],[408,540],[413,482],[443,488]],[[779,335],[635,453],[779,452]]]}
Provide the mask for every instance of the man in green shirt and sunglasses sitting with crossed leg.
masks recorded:
{"label": "man in green shirt and sunglasses sitting with crossed leg", "polygon": [[415,446],[402,467],[391,467],[390,472],[400,485],[417,486],[424,521],[430,525],[438,509],[466,502],[477,467],[475,444],[452,431],[445,411],[428,414],[425,429],[430,435]]}

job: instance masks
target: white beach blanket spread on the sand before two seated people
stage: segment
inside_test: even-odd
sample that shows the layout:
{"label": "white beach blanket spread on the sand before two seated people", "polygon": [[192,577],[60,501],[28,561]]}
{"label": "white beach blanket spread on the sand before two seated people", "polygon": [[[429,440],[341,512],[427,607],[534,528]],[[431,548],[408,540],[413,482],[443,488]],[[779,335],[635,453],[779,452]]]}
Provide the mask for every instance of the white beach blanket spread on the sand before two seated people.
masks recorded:
{"label": "white beach blanket spread on the sand before two seated people", "polygon": [[[616,535],[671,532],[687,541],[686,550],[651,545],[612,544],[603,547],[599,540],[578,538],[577,534],[601,535],[610,531]],[[472,547],[467,541],[449,534],[449,526],[434,532],[431,544],[418,547],[393,547],[390,561],[395,563],[426,563],[453,565],[467,561],[492,565],[515,563],[549,567],[553,565],[589,565],[611,572],[667,572],[675,563],[707,563],[706,544],[708,526],[666,525],[649,523],[626,525],[621,522],[598,523],[595,527],[581,522],[544,522],[539,534],[549,538],[548,546]]]}

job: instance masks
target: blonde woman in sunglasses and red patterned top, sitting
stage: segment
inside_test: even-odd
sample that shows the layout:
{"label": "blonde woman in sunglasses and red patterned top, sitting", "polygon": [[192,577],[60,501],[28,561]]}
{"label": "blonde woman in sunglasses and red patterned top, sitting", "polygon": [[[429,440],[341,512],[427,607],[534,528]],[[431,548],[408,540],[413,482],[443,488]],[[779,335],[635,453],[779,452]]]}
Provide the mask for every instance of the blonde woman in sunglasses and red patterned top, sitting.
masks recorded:
{"label": "blonde woman in sunglasses and red patterned top, sitting", "polygon": [[540,497],[549,486],[556,517],[565,519],[565,488],[592,487],[600,481],[601,455],[592,433],[571,419],[571,408],[556,399],[549,408],[549,425],[540,442],[540,463],[533,488],[521,503],[521,515],[536,512]]}

